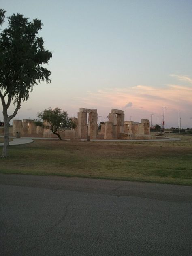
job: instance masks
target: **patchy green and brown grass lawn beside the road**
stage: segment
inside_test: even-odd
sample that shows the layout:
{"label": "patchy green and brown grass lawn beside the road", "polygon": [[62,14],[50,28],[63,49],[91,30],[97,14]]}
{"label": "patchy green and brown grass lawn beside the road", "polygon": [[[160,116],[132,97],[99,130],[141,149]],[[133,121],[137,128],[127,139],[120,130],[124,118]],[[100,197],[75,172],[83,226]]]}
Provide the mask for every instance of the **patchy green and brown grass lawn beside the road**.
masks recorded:
{"label": "patchy green and brown grass lawn beside the road", "polygon": [[192,186],[192,136],[179,137],[181,141],[155,142],[35,140],[10,146],[10,158],[0,158],[0,173]]}

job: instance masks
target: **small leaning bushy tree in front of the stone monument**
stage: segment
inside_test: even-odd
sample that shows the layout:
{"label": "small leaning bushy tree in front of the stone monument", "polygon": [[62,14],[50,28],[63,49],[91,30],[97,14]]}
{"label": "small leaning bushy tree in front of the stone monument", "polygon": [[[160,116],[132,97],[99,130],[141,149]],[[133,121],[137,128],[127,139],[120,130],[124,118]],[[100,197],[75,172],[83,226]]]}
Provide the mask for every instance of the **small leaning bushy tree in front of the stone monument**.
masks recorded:
{"label": "small leaning bushy tree in front of the stone monument", "polygon": [[64,132],[66,129],[74,129],[76,127],[75,122],[68,117],[68,113],[66,111],[61,111],[59,108],[45,109],[38,113],[37,116],[40,120],[36,121],[36,125],[51,130],[51,132],[57,135],[60,140],[61,136],[58,133],[59,131]]}

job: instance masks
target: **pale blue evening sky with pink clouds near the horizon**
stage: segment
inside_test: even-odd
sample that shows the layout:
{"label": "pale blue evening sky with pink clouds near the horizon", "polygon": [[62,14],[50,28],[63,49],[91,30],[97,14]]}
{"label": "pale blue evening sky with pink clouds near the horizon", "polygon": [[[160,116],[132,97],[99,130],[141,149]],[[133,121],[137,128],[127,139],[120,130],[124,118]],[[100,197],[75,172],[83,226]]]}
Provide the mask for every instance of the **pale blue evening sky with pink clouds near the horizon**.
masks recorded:
{"label": "pale blue evening sky with pink clouds near the horizon", "polygon": [[83,107],[97,109],[98,121],[121,109],[125,120],[161,124],[164,109],[165,128],[178,128],[179,113],[181,128],[192,128],[191,0],[0,0],[0,8],[41,19],[53,54],[51,84],[35,85],[14,119],[49,107],[77,117]]}

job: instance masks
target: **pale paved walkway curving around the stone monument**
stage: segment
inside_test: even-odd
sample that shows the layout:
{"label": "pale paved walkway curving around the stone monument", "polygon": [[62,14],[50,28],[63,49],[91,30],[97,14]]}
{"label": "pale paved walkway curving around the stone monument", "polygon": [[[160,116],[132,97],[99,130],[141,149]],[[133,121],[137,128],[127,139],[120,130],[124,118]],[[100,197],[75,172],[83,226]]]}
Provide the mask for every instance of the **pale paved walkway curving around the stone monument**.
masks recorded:
{"label": "pale paved walkway curving around the stone monument", "polygon": [[[3,136],[0,136],[3,137]],[[11,137],[10,138],[14,138],[13,141],[9,142],[9,145],[20,145],[20,144],[27,144],[27,143],[31,143],[34,141],[34,139],[44,139],[44,140],[58,140],[58,138],[36,138],[36,137],[21,137],[19,139],[16,139],[15,137]],[[70,141],[70,139],[64,139],[67,141]],[[144,141],[144,142],[149,142],[149,141],[179,141],[181,140],[181,138],[168,138],[165,137],[163,139],[154,139],[154,140],[104,140],[104,139],[95,139],[95,140],[91,140],[91,141],[126,141],[126,142],[132,142],[132,141]],[[82,141],[86,141],[85,139],[82,139]],[[4,143],[0,143],[0,146],[3,146]]]}

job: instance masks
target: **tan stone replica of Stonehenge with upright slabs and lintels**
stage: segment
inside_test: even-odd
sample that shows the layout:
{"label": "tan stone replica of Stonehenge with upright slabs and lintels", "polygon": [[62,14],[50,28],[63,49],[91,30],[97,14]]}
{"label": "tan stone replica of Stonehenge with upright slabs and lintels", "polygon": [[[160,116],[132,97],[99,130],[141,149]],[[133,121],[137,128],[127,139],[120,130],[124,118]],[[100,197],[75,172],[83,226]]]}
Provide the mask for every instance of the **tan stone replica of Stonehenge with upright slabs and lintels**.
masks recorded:
{"label": "tan stone replica of Stonehenge with upright slabs and lintels", "polygon": [[[97,109],[80,108],[78,117],[71,118],[77,127],[60,132],[60,135],[62,138],[72,140],[155,139],[154,136],[150,135],[150,122],[147,119],[142,119],[141,123],[125,121],[124,111],[119,109],[111,109],[108,118],[109,121],[101,125],[101,131],[98,133]],[[13,136],[16,136],[18,132],[21,136],[40,134],[47,138],[55,137],[51,130],[35,126],[34,120],[29,119],[13,120]]]}

